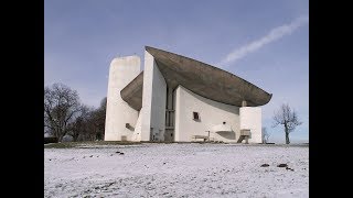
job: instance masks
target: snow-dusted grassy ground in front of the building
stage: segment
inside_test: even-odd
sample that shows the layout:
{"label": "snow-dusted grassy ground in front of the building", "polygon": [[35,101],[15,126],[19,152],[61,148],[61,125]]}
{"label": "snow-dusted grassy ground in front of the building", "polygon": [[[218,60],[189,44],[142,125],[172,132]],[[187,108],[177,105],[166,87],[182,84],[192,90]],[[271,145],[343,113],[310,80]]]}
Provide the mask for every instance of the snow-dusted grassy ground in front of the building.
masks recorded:
{"label": "snow-dusted grassy ground in front of the building", "polygon": [[146,143],[44,155],[45,197],[309,197],[309,146]]}

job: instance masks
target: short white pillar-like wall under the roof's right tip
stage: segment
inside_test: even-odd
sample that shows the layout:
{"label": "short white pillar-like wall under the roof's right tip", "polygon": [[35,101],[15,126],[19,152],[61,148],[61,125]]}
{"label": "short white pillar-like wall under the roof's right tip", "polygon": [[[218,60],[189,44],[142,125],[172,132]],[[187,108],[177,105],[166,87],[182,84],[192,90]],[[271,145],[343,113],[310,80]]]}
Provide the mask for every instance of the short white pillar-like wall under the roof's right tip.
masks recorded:
{"label": "short white pillar-like wall under the roof's right tip", "polygon": [[242,107],[240,108],[240,129],[249,129],[249,143],[263,143],[261,135],[261,108]]}

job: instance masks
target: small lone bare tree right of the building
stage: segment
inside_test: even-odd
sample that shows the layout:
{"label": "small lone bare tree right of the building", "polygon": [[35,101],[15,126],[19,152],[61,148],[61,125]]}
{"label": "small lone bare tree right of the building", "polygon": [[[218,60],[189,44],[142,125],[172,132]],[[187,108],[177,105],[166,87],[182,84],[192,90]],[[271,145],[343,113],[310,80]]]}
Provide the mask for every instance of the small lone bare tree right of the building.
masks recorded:
{"label": "small lone bare tree right of the building", "polygon": [[282,105],[281,108],[274,114],[274,121],[275,122],[272,128],[276,128],[279,124],[284,125],[286,133],[286,144],[290,143],[289,133],[295,131],[296,127],[302,123],[298,120],[297,112],[295,110],[291,110],[288,103]]}

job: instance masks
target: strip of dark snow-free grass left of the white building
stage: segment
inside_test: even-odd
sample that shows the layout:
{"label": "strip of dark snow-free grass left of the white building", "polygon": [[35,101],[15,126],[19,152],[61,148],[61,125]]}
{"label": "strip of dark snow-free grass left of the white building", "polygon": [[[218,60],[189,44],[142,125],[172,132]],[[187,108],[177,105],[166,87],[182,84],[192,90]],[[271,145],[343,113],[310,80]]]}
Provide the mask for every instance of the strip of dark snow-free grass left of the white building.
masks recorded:
{"label": "strip of dark snow-free grass left of the white building", "polygon": [[120,142],[120,141],[92,141],[92,142],[60,142],[44,144],[44,148],[69,148],[79,146],[95,146],[95,145],[132,145],[141,144],[140,142]]}

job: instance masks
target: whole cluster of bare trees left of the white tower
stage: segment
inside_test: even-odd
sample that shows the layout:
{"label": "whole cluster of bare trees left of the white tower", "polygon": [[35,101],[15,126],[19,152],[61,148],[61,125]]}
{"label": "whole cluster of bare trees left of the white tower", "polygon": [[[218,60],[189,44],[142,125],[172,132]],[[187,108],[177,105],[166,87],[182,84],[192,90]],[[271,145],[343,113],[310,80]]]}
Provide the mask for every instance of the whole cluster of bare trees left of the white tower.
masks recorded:
{"label": "whole cluster of bare trees left of the white tower", "polygon": [[81,102],[76,90],[63,84],[44,87],[44,134],[72,141],[104,140],[107,98],[98,108]]}

